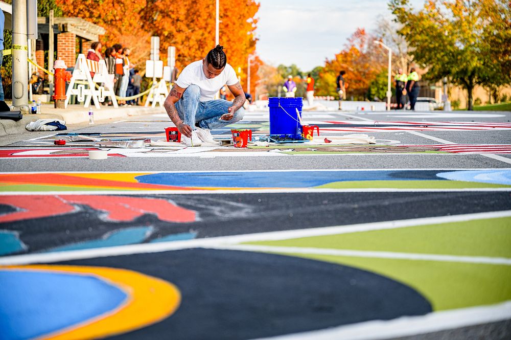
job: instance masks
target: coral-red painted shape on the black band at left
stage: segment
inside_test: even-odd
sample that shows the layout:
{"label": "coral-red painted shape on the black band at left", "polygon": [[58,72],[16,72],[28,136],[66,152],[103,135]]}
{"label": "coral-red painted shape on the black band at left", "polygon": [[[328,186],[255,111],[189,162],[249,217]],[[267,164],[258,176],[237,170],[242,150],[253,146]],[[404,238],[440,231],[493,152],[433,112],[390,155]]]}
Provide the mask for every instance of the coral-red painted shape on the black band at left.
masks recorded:
{"label": "coral-red painted shape on the black band at left", "polygon": [[176,206],[161,198],[107,196],[107,195],[14,195],[0,196],[0,204],[20,211],[0,216],[0,223],[31,218],[51,217],[76,211],[74,205],[89,206],[106,213],[111,221],[132,221],[144,214],[155,214],[166,222],[193,222],[193,210]]}

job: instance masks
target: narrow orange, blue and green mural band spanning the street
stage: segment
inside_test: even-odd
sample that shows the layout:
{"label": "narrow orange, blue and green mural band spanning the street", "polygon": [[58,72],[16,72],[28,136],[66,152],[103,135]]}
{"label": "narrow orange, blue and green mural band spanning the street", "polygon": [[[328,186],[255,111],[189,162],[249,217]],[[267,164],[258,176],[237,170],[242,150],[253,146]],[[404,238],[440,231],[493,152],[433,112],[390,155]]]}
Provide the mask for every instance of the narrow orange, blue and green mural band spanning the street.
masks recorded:
{"label": "narrow orange, blue and green mural band spanning the street", "polygon": [[[511,170],[313,170],[157,173],[4,173],[0,192],[196,191],[239,189],[510,188]],[[7,199],[7,198],[3,198]],[[37,198],[33,198],[37,199]],[[71,200],[87,198],[69,197]],[[95,205],[88,199],[89,205]],[[8,203],[8,202],[7,202]],[[137,205],[142,202],[138,202]],[[102,205],[115,205],[107,200]],[[65,204],[56,207],[66,210]],[[57,209],[57,208],[55,208]]]}

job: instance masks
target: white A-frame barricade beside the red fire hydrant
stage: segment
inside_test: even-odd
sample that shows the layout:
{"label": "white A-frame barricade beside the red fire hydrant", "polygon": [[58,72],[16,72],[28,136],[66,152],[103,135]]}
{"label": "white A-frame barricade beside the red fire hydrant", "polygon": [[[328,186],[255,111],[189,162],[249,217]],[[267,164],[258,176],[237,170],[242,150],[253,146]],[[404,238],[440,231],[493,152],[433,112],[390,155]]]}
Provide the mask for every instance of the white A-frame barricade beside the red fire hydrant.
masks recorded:
{"label": "white A-frame barricade beside the red fire hydrant", "polygon": [[[96,72],[94,80],[90,77],[91,71]],[[77,80],[86,81],[88,88],[85,88],[85,84],[78,84],[77,88],[73,88]],[[104,83],[105,86],[99,86],[99,88],[96,89],[95,82]],[[113,106],[118,107],[117,100],[115,99],[115,94],[113,92],[113,80],[108,75],[105,61],[100,60],[98,62],[89,60],[85,58],[84,54],[79,54],[78,59],[76,60],[75,70],[73,71],[71,82],[69,82],[69,86],[67,87],[64,107],[67,107],[69,98],[71,98],[72,95],[78,96],[79,102],[85,102],[83,107],[89,107],[90,100],[93,100],[94,106],[96,106],[96,108],[100,108],[99,103],[104,102],[105,97],[110,97]]]}

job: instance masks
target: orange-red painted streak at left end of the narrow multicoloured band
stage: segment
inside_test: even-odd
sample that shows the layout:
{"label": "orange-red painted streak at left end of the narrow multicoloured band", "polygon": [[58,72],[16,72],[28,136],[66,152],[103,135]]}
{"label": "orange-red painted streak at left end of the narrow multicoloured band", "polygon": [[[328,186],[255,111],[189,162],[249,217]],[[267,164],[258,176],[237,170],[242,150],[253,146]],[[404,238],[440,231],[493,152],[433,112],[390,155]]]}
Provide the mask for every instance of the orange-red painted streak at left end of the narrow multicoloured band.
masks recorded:
{"label": "orange-red painted streak at left end of the narrow multicoloured band", "polygon": [[90,186],[105,188],[134,188],[162,190],[193,190],[184,187],[165,186],[157,184],[131,183],[109,179],[87,178],[60,173],[18,173],[0,174],[0,182],[6,184],[34,184],[51,186]]}

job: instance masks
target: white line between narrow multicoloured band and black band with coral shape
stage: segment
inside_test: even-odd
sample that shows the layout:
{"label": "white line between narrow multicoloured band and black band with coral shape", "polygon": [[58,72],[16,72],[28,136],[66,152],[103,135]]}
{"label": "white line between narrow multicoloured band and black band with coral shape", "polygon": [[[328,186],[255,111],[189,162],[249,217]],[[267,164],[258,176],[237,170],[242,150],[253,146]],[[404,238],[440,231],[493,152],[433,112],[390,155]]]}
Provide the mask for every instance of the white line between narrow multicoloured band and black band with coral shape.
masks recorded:
{"label": "white line between narrow multicoloured band and black band with coral shape", "polygon": [[508,188],[466,188],[466,189],[393,189],[393,188],[360,188],[360,189],[219,189],[219,190],[88,190],[88,191],[0,191],[1,196],[48,196],[48,195],[204,195],[204,194],[273,194],[273,193],[363,193],[363,192],[508,192]]}

